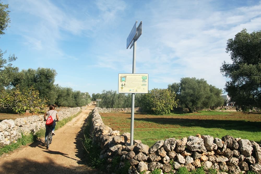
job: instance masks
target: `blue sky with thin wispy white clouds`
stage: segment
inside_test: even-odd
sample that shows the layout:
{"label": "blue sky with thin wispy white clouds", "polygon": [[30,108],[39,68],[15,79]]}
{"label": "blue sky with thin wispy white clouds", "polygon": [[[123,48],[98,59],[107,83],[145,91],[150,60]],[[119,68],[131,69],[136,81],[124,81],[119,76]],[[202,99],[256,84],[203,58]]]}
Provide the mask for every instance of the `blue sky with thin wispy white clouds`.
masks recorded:
{"label": "blue sky with thin wispy white clouds", "polygon": [[15,54],[19,70],[51,68],[55,84],[81,92],[118,90],[118,73],[132,73],[126,39],[142,21],[136,73],[149,74],[149,90],[182,77],[224,88],[220,73],[231,62],[226,42],[246,28],[261,29],[261,1],[2,0],[11,22],[0,49]]}

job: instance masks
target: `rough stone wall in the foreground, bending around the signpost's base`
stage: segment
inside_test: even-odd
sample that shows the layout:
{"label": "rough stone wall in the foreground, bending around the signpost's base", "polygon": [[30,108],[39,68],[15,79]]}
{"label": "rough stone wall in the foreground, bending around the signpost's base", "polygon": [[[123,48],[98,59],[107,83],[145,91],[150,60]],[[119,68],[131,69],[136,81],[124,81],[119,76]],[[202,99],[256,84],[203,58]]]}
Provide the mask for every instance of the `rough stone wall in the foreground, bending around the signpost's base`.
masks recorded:
{"label": "rough stone wall in the foreground, bending around the signpost's base", "polygon": [[[92,115],[93,143],[100,146],[100,159],[106,160],[106,169],[113,171],[112,161],[120,156],[117,168],[123,167],[128,161],[129,173],[146,171],[150,173],[161,169],[169,173],[185,166],[189,171],[197,167],[204,170],[217,169],[219,173],[261,173],[261,148],[254,141],[224,136],[222,139],[209,135],[169,138],[157,141],[149,147],[140,140],[130,144],[130,134],[120,132],[104,125],[98,109]],[[173,171],[173,172],[175,172]]]}

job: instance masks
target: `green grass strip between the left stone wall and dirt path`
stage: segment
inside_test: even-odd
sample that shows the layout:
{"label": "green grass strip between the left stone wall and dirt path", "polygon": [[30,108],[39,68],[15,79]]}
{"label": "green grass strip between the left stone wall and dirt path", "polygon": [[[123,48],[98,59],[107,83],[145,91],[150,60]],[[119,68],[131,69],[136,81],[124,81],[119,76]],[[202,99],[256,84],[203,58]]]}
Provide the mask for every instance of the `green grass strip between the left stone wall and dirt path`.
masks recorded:
{"label": "green grass strip between the left stone wall and dirt path", "polygon": [[[63,120],[56,122],[55,129],[63,127],[66,123],[71,121],[74,117],[78,116],[82,111],[76,113],[75,115],[71,117],[64,118]],[[29,134],[29,135],[24,135],[22,134],[22,137],[17,140],[16,143],[11,143],[10,145],[6,145],[4,147],[0,148],[0,156],[4,153],[9,153],[11,151],[14,151],[15,149],[21,147],[21,146],[26,146],[29,145],[33,142],[36,142],[39,140],[39,138],[42,138],[45,136],[45,128],[40,129],[37,131],[34,135]]]}

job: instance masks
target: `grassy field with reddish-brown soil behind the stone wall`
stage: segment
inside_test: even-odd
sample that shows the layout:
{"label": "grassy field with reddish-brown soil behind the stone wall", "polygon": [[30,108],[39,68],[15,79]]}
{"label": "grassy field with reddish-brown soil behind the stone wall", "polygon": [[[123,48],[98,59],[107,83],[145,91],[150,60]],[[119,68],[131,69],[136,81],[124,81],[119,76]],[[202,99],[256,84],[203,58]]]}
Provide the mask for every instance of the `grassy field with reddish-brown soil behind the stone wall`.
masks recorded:
{"label": "grassy field with reddish-brown soil behind the stone wall", "polygon": [[[131,132],[131,113],[100,113],[105,125],[120,134]],[[134,140],[152,146],[168,138],[181,139],[190,135],[231,135],[260,143],[261,113],[199,111],[168,115],[134,114]]]}

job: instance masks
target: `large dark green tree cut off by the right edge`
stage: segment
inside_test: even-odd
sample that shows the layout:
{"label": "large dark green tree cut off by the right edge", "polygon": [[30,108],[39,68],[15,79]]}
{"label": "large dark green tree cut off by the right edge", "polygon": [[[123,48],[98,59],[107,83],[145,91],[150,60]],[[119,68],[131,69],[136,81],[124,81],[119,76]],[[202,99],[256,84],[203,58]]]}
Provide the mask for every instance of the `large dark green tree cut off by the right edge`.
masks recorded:
{"label": "large dark green tree cut off by the right edge", "polygon": [[228,39],[226,52],[232,63],[224,61],[220,70],[230,79],[224,89],[231,102],[243,110],[261,107],[261,30],[247,33],[243,29]]}

